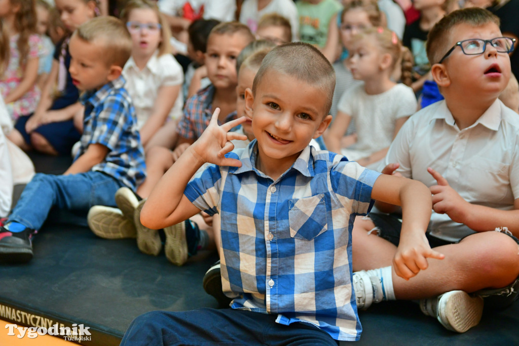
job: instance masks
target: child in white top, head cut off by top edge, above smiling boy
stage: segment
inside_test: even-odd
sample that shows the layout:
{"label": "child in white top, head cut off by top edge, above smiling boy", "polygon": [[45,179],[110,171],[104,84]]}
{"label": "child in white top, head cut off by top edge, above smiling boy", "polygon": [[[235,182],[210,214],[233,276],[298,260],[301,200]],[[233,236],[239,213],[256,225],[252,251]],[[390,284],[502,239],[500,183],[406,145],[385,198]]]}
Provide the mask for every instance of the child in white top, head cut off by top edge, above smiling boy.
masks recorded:
{"label": "child in white top, head cut off by top edge, above smiling boy", "polygon": [[245,0],[240,8],[239,20],[249,26],[254,34],[257,34],[262,18],[269,15],[284,18],[288,22],[289,28],[292,28],[289,39],[284,43],[297,41],[299,17],[292,0]]}

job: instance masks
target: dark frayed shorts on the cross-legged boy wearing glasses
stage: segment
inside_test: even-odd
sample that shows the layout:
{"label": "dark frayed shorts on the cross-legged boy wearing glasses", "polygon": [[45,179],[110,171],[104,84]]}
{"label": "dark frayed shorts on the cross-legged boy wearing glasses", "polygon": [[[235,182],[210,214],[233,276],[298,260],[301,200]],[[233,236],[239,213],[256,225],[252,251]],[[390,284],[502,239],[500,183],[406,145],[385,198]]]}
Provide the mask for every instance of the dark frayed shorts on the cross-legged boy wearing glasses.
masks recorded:
{"label": "dark frayed shorts on the cross-legged boy wearing glasses", "polygon": [[[395,246],[398,246],[400,242],[400,232],[402,230],[401,215],[370,212],[368,217],[375,224],[376,229],[374,231],[376,231],[379,237],[386,239]],[[519,239],[517,239],[515,236],[507,232],[502,233],[510,236],[519,245]],[[430,235],[429,232],[426,233],[426,236],[431,248],[448,244],[456,244],[461,241],[460,239],[458,242],[448,242]],[[507,287],[498,289],[482,289],[474,292],[474,295],[483,297],[485,299],[485,305],[488,305],[489,307],[495,309],[506,308],[519,297],[519,277],[517,277],[516,280]]]}

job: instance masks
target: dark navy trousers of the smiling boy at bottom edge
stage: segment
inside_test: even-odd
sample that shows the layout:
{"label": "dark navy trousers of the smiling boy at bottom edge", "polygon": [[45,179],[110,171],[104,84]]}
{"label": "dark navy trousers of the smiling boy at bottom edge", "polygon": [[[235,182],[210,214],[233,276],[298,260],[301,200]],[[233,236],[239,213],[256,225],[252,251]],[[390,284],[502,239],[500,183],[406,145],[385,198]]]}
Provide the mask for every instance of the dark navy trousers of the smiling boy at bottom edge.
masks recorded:
{"label": "dark navy trousers of the smiling boy at bottom edge", "polygon": [[333,345],[325,331],[306,323],[282,325],[277,315],[203,308],[152,311],[133,320],[121,345]]}

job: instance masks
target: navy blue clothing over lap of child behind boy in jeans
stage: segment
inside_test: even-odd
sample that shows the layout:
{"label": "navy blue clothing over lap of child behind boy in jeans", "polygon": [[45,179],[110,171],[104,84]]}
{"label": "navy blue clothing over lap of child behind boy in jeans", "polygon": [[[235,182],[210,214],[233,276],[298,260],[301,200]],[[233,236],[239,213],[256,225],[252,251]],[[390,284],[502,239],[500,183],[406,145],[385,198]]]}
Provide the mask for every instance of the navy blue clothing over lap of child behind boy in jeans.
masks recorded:
{"label": "navy blue clothing over lap of child behind boy in jeans", "polygon": [[[25,131],[25,123],[31,116],[32,114],[20,116],[15,124],[15,128],[29,145],[31,136]],[[60,155],[70,155],[72,146],[81,138],[72,120],[45,124],[36,128],[34,132],[42,135]]]}

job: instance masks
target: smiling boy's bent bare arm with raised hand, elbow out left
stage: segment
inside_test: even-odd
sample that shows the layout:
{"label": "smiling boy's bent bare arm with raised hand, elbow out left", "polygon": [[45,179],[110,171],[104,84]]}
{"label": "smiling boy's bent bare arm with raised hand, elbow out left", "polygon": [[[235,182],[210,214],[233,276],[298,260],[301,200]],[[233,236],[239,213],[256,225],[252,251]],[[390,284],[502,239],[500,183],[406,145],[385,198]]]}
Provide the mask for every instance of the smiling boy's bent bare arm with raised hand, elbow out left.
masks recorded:
{"label": "smiling boy's bent bare arm with raised hand, elbow out left", "polygon": [[245,117],[218,126],[216,109],[208,128],[193,145],[184,151],[149,195],[141,210],[141,222],[146,227],[160,229],[179,223],[197,214],[200,210],[184,195],[187,183],[204,163],[221,166],[241,166],[237,159],[224,155],[234,149],[233,139],[247,139],[229,130],[245,121]]}

